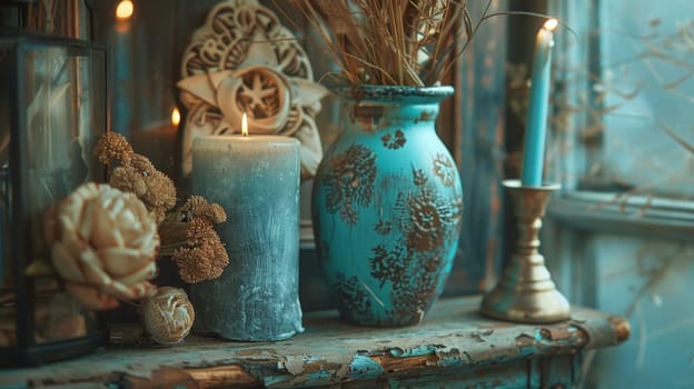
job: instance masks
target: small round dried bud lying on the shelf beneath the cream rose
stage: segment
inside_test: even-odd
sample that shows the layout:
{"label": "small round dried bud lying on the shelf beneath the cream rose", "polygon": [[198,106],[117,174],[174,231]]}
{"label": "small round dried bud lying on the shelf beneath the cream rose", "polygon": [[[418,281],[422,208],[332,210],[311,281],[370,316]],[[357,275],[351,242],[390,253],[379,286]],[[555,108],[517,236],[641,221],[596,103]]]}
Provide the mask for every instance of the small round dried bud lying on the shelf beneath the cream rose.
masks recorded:
{"label": "small round dried bud lying on the shelf beneath the cream rose", "polygon": [[195,310],[182,289],[162,287],[142,299],[145,330],[159,345],[179,343],[190,332]]}

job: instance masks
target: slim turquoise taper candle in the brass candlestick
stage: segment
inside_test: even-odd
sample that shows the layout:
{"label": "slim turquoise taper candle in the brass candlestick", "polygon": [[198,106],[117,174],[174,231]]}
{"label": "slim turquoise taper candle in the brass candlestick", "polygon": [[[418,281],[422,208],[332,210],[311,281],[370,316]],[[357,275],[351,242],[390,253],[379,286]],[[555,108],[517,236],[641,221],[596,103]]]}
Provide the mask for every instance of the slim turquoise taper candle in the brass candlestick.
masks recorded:
{"label": "slim turquoise taper candle in the brass candlestick", "polygon": [[548,19],[537,32],[535,40],[535,60],[531,78],[531,99],[520,169],[520,182],[526,187],[541,187],[543,181],[552,47],[554,46],[552,31],[557,24],[556,19]]}

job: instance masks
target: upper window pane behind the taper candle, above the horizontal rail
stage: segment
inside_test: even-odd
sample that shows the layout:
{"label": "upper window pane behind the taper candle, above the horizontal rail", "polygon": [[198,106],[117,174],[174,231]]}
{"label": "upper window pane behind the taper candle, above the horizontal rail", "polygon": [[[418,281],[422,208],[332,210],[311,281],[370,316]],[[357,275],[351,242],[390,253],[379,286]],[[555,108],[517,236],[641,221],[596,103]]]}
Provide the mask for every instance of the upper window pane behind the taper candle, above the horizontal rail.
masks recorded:
{"label": "upper window pane behind the taper candle, above the horizontal rail", "polygon": [[694,198],[694,3],[572,7],[558,7],[577,36],[555,47],[549,163],[584,189]]}

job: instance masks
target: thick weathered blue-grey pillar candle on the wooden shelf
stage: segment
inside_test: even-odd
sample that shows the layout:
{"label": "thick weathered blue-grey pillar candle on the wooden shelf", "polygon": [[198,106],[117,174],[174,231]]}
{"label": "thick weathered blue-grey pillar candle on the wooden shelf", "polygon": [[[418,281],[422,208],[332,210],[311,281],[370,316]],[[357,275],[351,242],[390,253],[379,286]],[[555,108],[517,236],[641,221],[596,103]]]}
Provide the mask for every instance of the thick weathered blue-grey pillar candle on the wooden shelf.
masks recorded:
{"label": "thick weathered blue-grey pillar candle on the wooden shelf", "polygon": [[194,331],[246,341],[301,332],[299,142],[276,136],[208,136],[192,143],[192,190],[227,211],[220,278],[192,285]]}

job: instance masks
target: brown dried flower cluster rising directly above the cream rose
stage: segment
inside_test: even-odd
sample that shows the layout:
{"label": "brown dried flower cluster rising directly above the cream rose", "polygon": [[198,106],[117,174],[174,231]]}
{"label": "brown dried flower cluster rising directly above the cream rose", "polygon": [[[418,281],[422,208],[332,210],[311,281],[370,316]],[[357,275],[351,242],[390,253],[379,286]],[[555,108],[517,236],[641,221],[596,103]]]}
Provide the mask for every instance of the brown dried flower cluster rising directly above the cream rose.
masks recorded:
{"label": "brown dried flower cluster rising directly above the cream rose", "polygon": [[132,192],[155,215],[157,223],[176,205],[174,181],[157,170],[147,157],[135,153],[122,136],[107,132],[97,143],[95,153],[102,163],[118,162],[109,183],[126,192]]}

